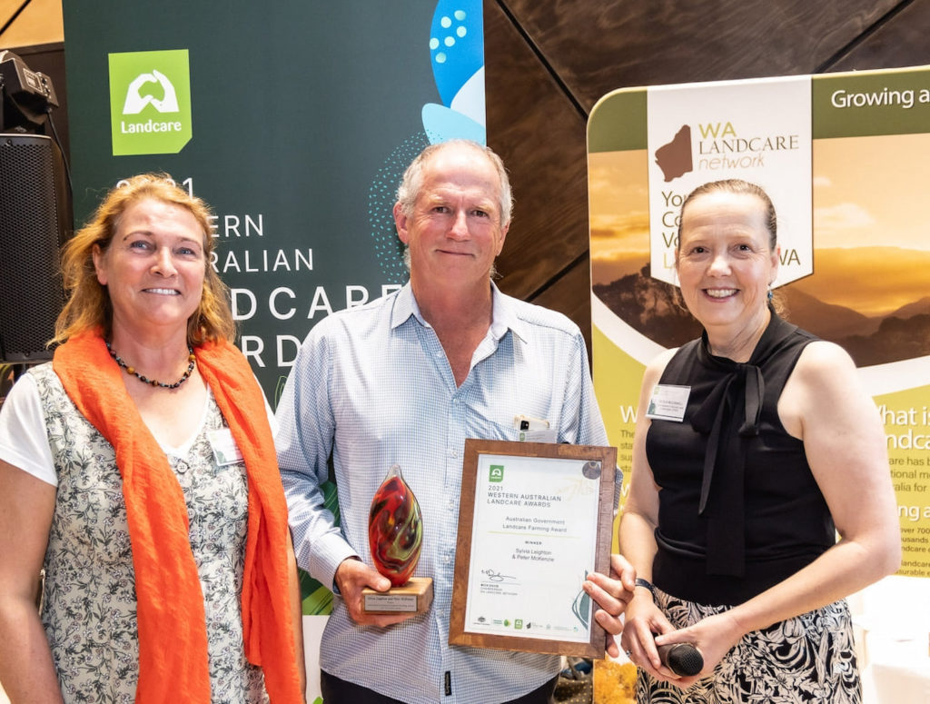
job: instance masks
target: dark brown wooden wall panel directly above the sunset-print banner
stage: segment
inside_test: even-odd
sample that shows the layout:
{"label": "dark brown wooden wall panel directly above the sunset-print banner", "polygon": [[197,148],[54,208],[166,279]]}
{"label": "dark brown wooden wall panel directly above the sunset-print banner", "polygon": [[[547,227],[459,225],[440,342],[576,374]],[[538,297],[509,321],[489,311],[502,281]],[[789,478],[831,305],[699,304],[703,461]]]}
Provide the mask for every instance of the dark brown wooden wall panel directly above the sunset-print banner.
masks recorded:
{"label": "dark brown wooden wall panel directly above the sunset-print banner", "polygon": [[623,86],[815,73],[899,0],[502,2],[590,110]]}

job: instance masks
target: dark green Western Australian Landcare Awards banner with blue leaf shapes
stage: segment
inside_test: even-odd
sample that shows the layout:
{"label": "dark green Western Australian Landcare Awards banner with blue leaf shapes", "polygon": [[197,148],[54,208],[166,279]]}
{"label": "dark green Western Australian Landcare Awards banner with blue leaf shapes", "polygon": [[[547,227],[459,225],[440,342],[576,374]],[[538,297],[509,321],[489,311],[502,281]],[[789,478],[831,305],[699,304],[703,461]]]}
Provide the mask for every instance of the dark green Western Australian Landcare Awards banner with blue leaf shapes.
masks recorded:
{"label": "dark green Western Australian Landcare Awards banner with blue leaf shapes", "polygon": [[[485,141],[480,0],[65,0],[64,22],[75,222],[141,172],[206,200],[272,405],[312,325],[404,284],[405,166],[431,142]],[[304,612],[328,613],[329,592],[303,586]]]}

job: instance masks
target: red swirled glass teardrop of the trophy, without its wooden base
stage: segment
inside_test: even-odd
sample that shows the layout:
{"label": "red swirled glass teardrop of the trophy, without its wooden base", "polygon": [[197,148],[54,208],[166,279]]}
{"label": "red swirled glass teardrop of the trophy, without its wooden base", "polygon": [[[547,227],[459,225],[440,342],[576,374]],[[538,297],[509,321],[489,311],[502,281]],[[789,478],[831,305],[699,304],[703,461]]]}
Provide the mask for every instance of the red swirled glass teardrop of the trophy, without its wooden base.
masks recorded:
{"label": "red swirled glass teardrop of the trophy, without its wooden base", "polygon": [[375,568],[394,587],[405,584],[417,568],[423,545],[423,521],[419,503],[401,475],[400,465],[392,465],[371,499],[368,513],[368,547]]}

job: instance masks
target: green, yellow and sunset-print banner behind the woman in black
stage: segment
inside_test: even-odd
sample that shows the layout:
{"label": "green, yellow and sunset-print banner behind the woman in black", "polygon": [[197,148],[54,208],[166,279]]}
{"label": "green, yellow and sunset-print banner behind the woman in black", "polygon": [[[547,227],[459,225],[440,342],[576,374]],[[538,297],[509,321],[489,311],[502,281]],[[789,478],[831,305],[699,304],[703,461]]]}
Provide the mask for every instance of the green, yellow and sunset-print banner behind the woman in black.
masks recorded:
{"label": "green, yellow and sunset-print banner behind the woman in black", "polygon": [[789,320],[842,345],[881,412],[899,575],[930,576],[930,68],[621,89],[591,111],[588,166],[594,383],[623,469],[645,365],[699,334],[673,295],[682,201],[758,183]]}

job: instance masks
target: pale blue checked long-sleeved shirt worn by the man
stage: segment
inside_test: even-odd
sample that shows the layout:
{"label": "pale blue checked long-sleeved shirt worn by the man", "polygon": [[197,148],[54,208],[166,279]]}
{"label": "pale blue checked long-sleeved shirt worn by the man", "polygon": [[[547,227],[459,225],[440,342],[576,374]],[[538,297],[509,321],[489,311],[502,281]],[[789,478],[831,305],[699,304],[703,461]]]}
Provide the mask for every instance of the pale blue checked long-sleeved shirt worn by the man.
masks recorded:
{"label": "pale blue checked long-sleeved shirt worn by the man", "polygon": [[[416,575],[433,579],[428,613],[359,627],[337,598],[320,665],[411,704],[491,704],[521,697],[559,671],[559,658],[448,644],[465,438],[517,440],[513,418],[550,421],[558,442],[606,445],[584,339],[564,315],[493,286],[493,320],[456,387],[410,285],[330,315],[304,341],[278,405],[275,439],[298,564],[325,585],[368,550],[371,498],[395,462],[419,500]],[[341,525],[320,485],[332,454]]]}

